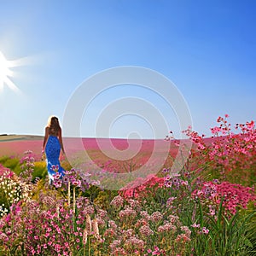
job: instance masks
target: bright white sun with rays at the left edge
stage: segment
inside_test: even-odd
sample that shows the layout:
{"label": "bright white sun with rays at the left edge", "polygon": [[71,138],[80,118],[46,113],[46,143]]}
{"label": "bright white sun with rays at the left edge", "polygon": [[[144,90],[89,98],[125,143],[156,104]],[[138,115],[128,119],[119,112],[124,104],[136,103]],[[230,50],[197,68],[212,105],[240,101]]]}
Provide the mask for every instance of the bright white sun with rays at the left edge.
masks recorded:
{"label": "bright white sun with rays at the left edge", "polygon": [[0,92],[3,90],[4,85],[7,85],[9,89],[14,90],[15,92],[20,91],[20,89],[11,80],[14,72],[10,68],[15,67],[14,63],[15,61],[6,60],[5,56],[0,51]]}

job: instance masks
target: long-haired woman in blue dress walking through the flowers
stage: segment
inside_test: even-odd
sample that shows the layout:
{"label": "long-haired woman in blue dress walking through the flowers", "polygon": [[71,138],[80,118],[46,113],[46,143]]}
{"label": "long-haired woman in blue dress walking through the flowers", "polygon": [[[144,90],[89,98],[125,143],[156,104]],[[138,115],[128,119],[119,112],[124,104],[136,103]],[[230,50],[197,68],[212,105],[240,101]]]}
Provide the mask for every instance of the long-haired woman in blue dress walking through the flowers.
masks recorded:
{"label": "long-haired woman in blue dress walking through the flowers", "polygon": [[50,116],[48,120],[48,125],[45,127],[44,132],[44,143],[42,153],[46,155],[46,163],[49,174],[49,183],[54,180],[54,175],[58,172],[61,177],[64,175],[64,169],[60,164],[60,154],[65,154],[62,136],[61,136],[61,126],[59,120],[55,116]]}

